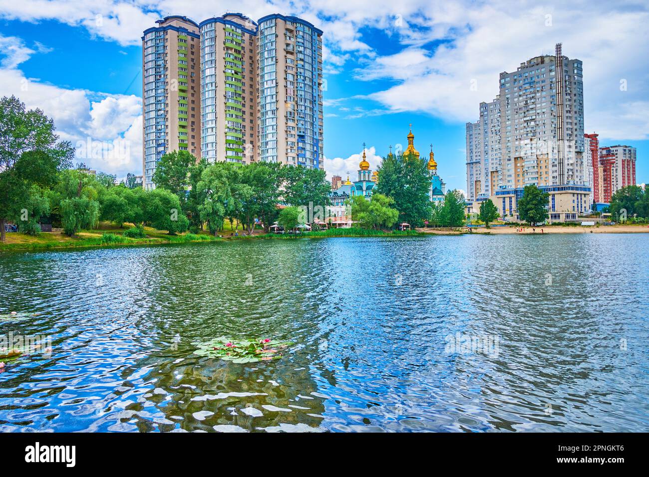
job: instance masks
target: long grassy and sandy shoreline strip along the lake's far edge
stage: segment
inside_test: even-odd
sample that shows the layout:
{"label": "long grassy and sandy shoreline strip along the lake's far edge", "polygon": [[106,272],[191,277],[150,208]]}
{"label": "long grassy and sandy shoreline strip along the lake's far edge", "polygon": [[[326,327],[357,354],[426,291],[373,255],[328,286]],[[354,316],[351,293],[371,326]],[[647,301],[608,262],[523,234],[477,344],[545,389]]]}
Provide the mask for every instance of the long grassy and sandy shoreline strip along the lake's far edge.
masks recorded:
{"label": "long grassy and sandy shoreline strip along the lake's far edge", "polygon": [[[318,238],[386,238],[386,237],[421,237],[421,236],[463,236],[463,235],[547,235],[547,234],[649,234],[649,226],[647,225],[608,225],[608,226],[561,226],[551,225],[543,227],[534,227],[535,232],[532,232],[532,227],[522,227],[524,231],[517,231],[519,227],[515,226],[492,226],[487,229],[484,227],[472,228],[471,232],[467,227],[450,229],[450,228],[428,228],[419,227],[410,232],[380,232],[371,231],[367,233],[360,233],[354,231],[353,233],[346,233],[343,230],[337,229],[341,232],[337,233],[318,233],[307,232],[300,235],[284,235],[284,234],[252,234],[240,236],[221,236],[215,237],[210,234],[184,234],[176,236],[167,236],[160,234],[145,239],[123,239],[121,242],[111,243],[104,242],[101,236],[93,236],[93,238],[77,238],[77,239],[62,239],[46,242],[38,242],[37,238],[34,241],[27,241],[25,243],[0,243],[0,252],[38,252],[38,251],[61,251],[67,249],[94,249],[97,247],[111,248],[111,247],[130,247],[134,245],[182,245],[184,243],[214,243],[219,241],[236,241],[236,240],[249,240],[249,239],[268,239],[268,240],[292,240],[292,239],[318,239]],[[543,233],[541,232],[543,229]],[[158,231],[156,231],[158,232]],[[42,234],[49,234],[51,232],[42,232]],[[312,235],[313,233],[313,235]],[[24,246],[23,246],[24,245]]]}

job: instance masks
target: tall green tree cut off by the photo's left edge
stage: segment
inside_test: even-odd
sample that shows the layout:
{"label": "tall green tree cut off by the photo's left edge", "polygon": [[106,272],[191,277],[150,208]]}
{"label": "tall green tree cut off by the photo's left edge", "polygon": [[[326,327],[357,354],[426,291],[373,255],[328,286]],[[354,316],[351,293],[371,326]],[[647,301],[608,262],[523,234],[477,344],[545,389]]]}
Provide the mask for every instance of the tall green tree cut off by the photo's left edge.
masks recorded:
{"label": "tall green tree cut off by the photo's left edge", "polygon": [[5,223],[26,208],[33,185],[49,188],[68,167],[74,150],[58,141],[54,122],[41,110],[26,110],[15,96],[0,99],[0,240]]}

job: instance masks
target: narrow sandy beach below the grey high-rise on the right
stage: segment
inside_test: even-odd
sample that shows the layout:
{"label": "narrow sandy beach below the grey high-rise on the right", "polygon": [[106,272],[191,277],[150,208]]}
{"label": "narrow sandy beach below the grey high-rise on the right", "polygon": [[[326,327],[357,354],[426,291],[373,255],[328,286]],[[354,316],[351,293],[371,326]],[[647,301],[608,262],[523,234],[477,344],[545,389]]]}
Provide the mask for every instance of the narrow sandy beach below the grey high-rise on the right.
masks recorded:
{"label": "narrow sandy beach below the grey high-rise on the right", "polygon": [[[456,235],[468,232],[467,227],[448,229],[448,228],[417,228],[417,232],[424,234],[437,235]],[[522,230],[522,231],[519,231]],[[541,232],[543,230],[543,232]],[[649,234],[647,225],[600,225],[600,226],[582,226],[582,225],[546,225],[539,227],[520,227],[520,226],[492,226],[491,228],[476,227],[471,229],[472,234]]]}

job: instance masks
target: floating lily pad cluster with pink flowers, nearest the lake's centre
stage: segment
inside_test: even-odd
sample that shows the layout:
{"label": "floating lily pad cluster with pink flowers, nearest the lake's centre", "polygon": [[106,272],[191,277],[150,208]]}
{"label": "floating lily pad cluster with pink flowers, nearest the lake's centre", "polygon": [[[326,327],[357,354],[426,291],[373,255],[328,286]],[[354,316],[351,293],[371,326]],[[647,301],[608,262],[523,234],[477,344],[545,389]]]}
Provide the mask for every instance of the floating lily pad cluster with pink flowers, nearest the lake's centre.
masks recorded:
{"label": "floating lily pad cluster with pink flowers, nearest the lake's centre", "polygon": [[290,341],[276,339],[225,339],[215,338],[206,343],[191,343],[197,347],[194,354],[206,358],[221,358],[233,363],[257,363],[278,360]]}

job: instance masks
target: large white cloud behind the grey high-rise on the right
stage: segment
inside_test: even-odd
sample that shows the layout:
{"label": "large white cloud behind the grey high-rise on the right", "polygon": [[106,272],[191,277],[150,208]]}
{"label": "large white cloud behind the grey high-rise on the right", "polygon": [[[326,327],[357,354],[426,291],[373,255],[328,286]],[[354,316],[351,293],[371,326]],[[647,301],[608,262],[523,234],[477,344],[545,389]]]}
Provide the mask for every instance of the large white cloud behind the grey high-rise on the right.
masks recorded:
{"label": "large white cloud behind the grey high-rise on the right", "polygon": [[[491,101],[498,93],[500,72],[515,71],[532,56],[554,54],[554,44],[562,42],[564,55],[583,60],[586,130],[603,138],[649,138],[646,7],[630,4],[611,11],[609,4],[593,3],[584,15],[580,3],[524,5],[513,9],[506,2],[490,2],[466,8],[462,18],[452,12],[441,19],[429,15],[426,34],[402,38],[415,45],[367,60],[356,70],[358,79],[397,81],[367,99],[392,112],[421,111],[452,121],[475,121],[480,101]],[[455,23],[456,30],[448,22]],[[421,46],[440,34],[450,35],[451,41],[433,51]],[[620,91],[623,79],[626,91]]]}

